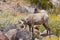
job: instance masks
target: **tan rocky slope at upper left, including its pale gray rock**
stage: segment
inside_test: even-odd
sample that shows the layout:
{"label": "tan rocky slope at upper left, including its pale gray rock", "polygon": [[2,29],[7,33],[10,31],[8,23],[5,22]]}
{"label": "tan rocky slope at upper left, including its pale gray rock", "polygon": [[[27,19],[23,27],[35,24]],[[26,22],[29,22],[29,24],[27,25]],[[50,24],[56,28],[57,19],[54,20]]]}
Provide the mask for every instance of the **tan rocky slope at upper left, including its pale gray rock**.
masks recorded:
{"label": "tan rocky slope at upper left, including its pale gray rock", "polygon": [[0,1],[0,11],[3,13],[9,11],[12,14],[20,13],[33,13],[34,8],[31,7],[26,0],[5,0]]}

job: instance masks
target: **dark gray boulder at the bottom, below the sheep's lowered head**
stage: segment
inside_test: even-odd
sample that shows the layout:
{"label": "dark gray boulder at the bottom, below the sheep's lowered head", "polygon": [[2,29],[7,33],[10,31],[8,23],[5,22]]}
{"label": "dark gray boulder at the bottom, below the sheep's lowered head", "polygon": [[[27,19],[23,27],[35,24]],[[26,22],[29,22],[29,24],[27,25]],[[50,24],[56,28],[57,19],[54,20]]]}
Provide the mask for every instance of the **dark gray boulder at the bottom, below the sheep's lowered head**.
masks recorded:
{"label": "dark gray boulder at the bottom, below the sheep's lowered head", "polygon": [[16,37],[23,40],[31,40],[30,33],[27,30],[22,30],[17,32]]}

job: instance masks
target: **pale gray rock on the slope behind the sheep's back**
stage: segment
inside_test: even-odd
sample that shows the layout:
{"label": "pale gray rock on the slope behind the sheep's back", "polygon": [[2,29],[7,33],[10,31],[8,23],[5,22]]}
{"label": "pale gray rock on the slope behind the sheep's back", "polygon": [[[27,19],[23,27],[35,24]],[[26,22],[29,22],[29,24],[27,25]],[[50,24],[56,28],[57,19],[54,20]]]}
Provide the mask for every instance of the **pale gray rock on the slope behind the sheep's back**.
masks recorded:
{"label": "pale gray rock on the slope behind the sheep's back", "polygon": [[17,11],[20,11],[21,13],[34,13],[35,8],[28,7],[28,6],[18,6],[15,9]]}

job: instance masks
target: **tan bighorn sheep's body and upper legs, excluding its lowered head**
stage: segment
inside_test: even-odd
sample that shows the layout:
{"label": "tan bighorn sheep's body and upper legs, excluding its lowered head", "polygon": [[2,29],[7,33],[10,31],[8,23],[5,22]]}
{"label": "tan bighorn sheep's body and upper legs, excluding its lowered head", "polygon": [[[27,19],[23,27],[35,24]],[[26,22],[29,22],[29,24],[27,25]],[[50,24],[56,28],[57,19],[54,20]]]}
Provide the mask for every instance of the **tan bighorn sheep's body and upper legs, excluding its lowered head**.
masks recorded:
{"label": "tan bighorn sheep's body and upper legs, excluding its lowered head", "polygon": [[48,25],[48,12],[45,10],[40,10],[39,13],[36,14],[29,14],[26,17],[24,17],[23,19],[21,19],[25,25],[29,25],[29,30],[33,32],[33,26],[34,25],[41,25],[43,24],[43,26],[46,28],[47,30],[47,34],[50,32],[50,28]]}

